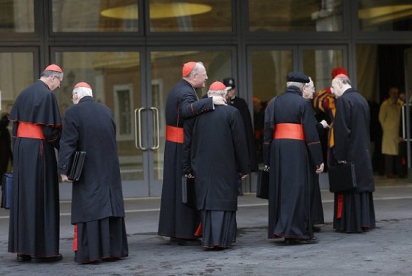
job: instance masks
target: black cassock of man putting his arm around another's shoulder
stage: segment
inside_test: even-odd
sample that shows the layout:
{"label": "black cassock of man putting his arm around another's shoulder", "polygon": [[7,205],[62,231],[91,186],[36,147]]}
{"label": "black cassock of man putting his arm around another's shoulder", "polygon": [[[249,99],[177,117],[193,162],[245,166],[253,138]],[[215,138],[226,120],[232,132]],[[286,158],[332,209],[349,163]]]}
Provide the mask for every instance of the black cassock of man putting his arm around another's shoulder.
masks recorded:
{"label": "black cassock of man putting his arm around another's shoulder", "polygon": [[183,123],[185,119],[212,110],[212,99],[198,100],[195,89],[186,80],[173,86],[167,96],[166,125],[180,130],[182,141],[172,141],[166,137],[158,235],[182,239],[197,238],[195,232],[200,222],[199,213],[182,204]]}

